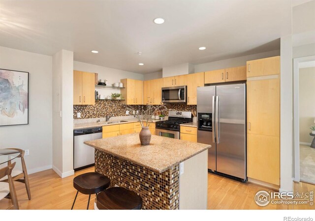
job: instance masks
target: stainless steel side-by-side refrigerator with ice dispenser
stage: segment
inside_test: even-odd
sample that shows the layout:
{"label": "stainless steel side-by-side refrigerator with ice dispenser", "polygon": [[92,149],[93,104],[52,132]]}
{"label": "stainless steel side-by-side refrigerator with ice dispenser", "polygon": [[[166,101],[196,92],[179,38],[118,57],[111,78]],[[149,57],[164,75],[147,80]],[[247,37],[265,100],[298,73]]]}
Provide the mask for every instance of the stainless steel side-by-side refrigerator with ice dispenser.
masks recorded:
{"label": "stainless steel side-by-side refrigerator with ice dispenser", "polygon": [[222,175],[246,176],[246,84],[197,88],[200,143],[211,144],[208,169]]}

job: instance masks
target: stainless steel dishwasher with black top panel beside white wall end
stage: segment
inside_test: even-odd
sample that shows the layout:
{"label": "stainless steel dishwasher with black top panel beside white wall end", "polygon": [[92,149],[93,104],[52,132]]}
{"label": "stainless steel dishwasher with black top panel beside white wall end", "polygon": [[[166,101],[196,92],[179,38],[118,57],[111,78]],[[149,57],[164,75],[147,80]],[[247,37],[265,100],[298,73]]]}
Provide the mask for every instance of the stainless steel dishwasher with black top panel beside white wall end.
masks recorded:
{"label": "stainless steel dishwasher with black top panel beside white wall end", "polygon": [[73,131],[73,169],[74,171],[94,166],[94,148],[84,141],[101,139],[102,128],[87,128]]}

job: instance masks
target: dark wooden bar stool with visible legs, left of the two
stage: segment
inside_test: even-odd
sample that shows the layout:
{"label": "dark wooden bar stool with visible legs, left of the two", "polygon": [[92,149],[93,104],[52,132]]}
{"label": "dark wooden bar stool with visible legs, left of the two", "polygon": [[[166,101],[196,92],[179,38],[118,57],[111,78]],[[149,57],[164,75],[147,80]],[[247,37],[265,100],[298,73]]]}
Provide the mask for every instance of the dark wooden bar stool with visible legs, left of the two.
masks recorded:
{"label": "dark wooden bar stool with visible legs, left of the two", "polygon": [[77,190],[77,194],[75,195],[71,210],[73,209],[75,200],[79,192],[89,195],[89,201],[88,201],[88,207],[87,207],[87,210],[88,210],[91,194],[97,194],[107,189],[109,185],[110,185],[110,179],[107,176],[104,176],[96,172],[84,173],[84,174],[74,177],[73,187]]}

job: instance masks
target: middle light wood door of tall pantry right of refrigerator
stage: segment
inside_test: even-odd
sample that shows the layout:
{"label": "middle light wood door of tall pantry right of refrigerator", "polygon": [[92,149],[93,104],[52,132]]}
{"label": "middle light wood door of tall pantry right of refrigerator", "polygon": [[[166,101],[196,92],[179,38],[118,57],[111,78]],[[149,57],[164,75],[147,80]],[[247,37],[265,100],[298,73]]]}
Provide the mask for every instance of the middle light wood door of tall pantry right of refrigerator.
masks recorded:
{"label": "middle light wood door of tall pantry right of refrigerator", "polygon": [[280,79],[247,82],[247,133],[280,136]]}

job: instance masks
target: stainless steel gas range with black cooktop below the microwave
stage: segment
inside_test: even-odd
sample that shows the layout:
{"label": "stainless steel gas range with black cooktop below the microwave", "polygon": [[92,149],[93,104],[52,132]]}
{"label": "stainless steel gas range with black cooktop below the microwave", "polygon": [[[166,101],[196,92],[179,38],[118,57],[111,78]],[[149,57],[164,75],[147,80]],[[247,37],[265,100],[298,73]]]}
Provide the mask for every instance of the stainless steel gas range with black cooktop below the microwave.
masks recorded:
{"label": "stainless steel gas range with black cooktop below the microwave", "polygon": [[180,125],[192,122],[190,111],[168,111],[168,120],[162,120],[156,123],[156,128],[180,131]]}

